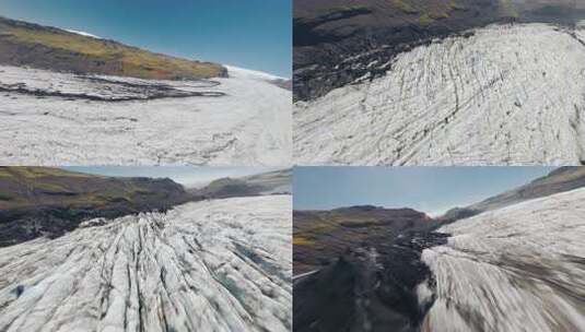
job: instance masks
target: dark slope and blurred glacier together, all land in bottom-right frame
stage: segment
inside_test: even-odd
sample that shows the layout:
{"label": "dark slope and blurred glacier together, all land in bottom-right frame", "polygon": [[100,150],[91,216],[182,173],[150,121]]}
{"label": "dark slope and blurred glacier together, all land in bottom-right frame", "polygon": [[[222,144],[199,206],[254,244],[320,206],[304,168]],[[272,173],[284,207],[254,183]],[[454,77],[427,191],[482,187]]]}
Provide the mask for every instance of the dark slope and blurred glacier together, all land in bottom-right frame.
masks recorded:
{"label": "dark slope and blurred glacier together, all land in bottom-right frame", "polygon": [[582,331],[584,175],[435,217],[294,211],[294,331]]}

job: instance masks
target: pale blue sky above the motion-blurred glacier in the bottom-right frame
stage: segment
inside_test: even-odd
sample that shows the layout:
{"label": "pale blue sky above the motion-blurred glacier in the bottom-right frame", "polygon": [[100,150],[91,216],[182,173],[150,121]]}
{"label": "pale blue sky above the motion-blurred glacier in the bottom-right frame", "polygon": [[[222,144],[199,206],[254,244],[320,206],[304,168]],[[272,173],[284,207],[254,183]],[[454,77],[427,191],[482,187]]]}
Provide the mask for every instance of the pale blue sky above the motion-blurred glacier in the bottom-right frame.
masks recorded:
{"label": "pale blue sky above the motion-blurred glacier in the bottom-right frame", "polygon": [[554,167],[296,167],[295,210],[411,208],[441,215],[526,185]]}

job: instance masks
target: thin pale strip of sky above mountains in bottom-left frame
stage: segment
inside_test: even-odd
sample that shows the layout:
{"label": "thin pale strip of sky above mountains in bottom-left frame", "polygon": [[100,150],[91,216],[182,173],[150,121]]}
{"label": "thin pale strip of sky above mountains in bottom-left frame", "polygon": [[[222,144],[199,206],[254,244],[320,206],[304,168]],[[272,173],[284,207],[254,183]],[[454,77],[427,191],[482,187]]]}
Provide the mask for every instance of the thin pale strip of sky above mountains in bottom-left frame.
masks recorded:
{"label": "thin pale strip of sky above mountains in bottom-left frame", "polygon": [[276,170],[262,167],[195,167],[195,166],[70,166],[63,169],[114,177],[169,178],[186,187],[198,187],[224,177],[243,177]]}

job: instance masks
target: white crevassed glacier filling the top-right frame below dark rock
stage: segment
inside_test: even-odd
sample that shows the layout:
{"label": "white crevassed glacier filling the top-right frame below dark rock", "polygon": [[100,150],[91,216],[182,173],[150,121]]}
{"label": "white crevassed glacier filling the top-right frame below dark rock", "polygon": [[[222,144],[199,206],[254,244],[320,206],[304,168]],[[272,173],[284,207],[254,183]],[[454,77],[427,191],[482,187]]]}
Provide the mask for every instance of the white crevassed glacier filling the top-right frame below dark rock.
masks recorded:
{"label": "white crevassed glacier filling the top-right frame below dark rock", "polygon": [[491,25],[293,107],[300,165],[580,165],[585,26]]}

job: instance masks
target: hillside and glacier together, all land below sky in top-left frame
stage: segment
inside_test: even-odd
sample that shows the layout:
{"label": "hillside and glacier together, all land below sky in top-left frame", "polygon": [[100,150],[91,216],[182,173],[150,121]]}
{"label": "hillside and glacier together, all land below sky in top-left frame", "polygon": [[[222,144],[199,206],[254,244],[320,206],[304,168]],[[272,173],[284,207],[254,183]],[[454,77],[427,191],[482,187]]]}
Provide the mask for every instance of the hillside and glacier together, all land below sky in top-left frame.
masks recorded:
{"label": "hillside and glacier together, all land below sky in top-left frame", "polygon": [[284,165],[290,82],[0,19],[2,165]]}

